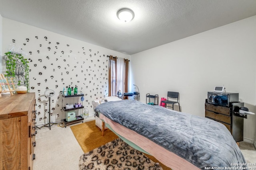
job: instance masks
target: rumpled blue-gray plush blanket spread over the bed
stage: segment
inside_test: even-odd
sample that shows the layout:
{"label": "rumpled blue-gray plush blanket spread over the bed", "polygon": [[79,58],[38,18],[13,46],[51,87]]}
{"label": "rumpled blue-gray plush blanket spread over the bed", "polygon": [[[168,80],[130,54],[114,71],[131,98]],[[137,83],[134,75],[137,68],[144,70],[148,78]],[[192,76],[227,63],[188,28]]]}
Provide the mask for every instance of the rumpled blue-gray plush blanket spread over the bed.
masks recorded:
{"label": "rumpled blue-gray plush blanket spread over the bed", "polygon": [[231,133],[216,121],[136,100],[106,102],[95,111],[198,168],[245,167],[244,156]]}

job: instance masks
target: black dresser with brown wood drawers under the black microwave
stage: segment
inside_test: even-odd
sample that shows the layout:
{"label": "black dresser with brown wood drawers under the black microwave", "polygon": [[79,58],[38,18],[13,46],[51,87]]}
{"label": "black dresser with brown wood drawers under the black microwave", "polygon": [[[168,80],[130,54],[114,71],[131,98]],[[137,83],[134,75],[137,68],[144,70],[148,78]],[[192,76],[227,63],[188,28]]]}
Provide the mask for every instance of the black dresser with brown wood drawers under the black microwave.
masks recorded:
{"label": "black dresser with brown wood drawers under the black microwave", "polygon": [[217,106],[205,103],[205,117],[213,119],[225,125],[236,142],[244,140],[244,117],[235,113],[234,110],[244,106],[244,103],[232,103],[230,107]]}

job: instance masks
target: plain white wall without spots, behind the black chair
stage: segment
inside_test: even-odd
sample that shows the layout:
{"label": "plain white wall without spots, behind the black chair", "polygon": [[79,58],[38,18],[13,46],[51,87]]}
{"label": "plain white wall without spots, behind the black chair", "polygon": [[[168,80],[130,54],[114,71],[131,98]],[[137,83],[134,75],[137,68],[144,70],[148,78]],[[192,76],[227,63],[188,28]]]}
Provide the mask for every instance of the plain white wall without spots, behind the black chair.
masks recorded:
{"label": "plain white wall without spots, behind the black chair", "polygon": [[[146,94],[167,97],[180,92],[183,112],[204,116],[207,92],[225,86],[255,112],[256,16],[131,56],[131,84]],[[153,41],[153,40],[152,40]],[[177,109],[177,108],[176,108]],[[255,115],[244,120],[244,138],[252,142]]]}

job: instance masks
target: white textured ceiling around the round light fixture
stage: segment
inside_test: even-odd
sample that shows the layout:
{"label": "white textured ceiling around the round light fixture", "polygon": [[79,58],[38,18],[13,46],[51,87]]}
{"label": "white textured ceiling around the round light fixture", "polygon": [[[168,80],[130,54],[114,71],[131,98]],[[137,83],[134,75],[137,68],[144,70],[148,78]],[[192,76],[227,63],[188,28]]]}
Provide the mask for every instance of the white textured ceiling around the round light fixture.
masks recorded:
{"label": "white textured ceiling around the round light fixture", "polygon": [[[120,8],[135,17],[121,23]],[[4,18],[132,55],[256,15],[256,0],[0,0]]]}

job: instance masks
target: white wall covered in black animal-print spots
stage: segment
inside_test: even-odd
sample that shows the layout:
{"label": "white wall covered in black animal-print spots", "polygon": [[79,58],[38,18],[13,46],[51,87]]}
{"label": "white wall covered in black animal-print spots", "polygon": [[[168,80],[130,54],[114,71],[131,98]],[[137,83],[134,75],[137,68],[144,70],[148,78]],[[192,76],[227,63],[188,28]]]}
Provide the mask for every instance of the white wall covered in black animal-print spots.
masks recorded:
{"label": "white wall covered in black animal-print spots", "polygon": [[47,88],[56,92],[51,98],[51,121],[62,119],[60,91],[68,85],[77,85],[78,90],[82,90],[83,105],[93,113],[91,101],[108,96],[107,55],[130,58],[130,55],[6,18],[2,27],[3,53],[10,44],[28,53],[24,57],[30,61],[30,92],[36,93],[37,125],[48,122],[48,113],[44,114],[49,107],[48,98],[44,96]]}

